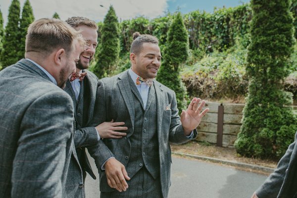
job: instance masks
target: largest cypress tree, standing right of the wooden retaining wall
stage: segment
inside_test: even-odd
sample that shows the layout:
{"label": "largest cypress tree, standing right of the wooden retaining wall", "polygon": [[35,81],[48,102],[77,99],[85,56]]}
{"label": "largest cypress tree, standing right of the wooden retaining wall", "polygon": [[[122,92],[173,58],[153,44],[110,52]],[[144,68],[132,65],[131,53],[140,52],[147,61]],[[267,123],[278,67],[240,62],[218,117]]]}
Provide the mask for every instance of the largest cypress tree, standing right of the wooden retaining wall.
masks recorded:
{"label": "largest cypress tree, standing right of the wooden retaining wall", "polygon": [[282,84],[293,51],[291,0],[251,0],[253,18],[247,53],[249,87],[243,125],[235,142],[246,156],[280,157],[294,141],[297,118],[292,94]]}

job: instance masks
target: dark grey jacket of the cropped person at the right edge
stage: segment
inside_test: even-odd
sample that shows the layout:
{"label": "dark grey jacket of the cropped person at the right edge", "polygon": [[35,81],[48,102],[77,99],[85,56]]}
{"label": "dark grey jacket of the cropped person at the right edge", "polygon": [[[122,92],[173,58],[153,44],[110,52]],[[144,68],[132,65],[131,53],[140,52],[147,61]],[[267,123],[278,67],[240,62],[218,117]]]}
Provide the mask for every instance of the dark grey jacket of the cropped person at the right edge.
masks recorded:
{"label": "dark grey jacket of the cropped person at the right edge", "polygon": [[297,198],[297,133],[277,168],[256,191],[259,198]]}

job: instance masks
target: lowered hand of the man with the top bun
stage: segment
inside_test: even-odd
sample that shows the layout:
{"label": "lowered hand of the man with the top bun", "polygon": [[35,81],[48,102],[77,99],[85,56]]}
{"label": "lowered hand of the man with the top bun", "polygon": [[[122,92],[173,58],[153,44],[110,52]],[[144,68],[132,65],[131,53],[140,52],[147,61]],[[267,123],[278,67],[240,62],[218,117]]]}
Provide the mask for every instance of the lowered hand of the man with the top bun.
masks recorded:
{"label": "lowered hand of the man with the top bun", "polygon": [[113,157],[108,159],[104,166],[108,185],[119,192],[126,191],[128,188],[126,180],[130,180],[130,177],[125,166]]}

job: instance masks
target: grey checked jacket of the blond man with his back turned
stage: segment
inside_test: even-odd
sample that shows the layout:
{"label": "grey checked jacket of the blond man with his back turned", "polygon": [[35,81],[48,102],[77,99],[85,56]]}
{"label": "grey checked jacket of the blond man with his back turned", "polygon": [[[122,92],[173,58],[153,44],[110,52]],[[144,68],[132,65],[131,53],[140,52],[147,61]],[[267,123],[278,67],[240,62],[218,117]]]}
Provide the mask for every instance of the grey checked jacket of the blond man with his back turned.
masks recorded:
{"label": "grey checked jacket of the blond man with his back turned", "polygon": [[22,59],[0,72],[0,111],[0,197],[84,197],[71,98]]}

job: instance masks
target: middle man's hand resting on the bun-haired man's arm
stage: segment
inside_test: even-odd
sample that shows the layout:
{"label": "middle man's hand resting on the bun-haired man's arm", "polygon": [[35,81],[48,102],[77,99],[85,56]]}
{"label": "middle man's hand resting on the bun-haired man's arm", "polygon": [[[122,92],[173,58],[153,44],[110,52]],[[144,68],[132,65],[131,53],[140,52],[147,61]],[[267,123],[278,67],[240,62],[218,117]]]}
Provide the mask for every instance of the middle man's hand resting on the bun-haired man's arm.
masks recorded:
{"label": "middle man's hand resting on the bun-haired man's arm", "polygon": [[123,127],[125,122],[103,122],[95,127],[99,133],[100,138],[122,138],[126,133],[118,131],[126,131],[128,127]]}

